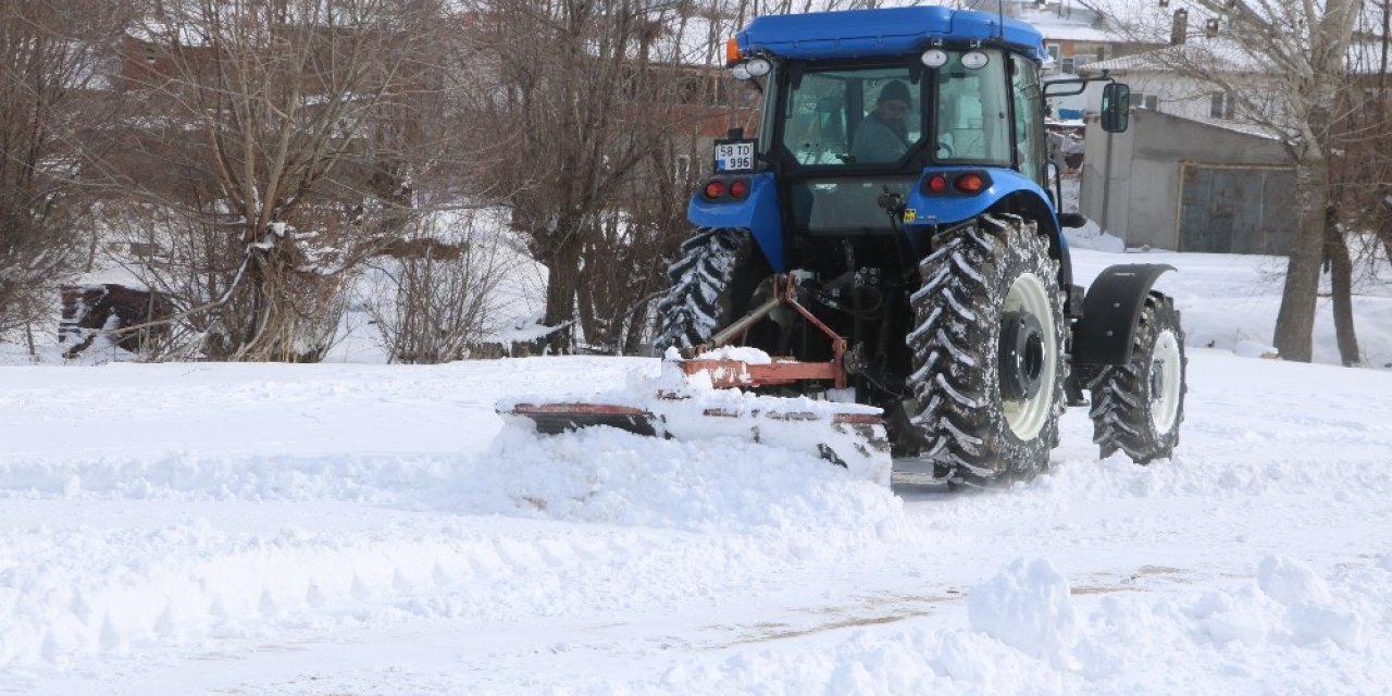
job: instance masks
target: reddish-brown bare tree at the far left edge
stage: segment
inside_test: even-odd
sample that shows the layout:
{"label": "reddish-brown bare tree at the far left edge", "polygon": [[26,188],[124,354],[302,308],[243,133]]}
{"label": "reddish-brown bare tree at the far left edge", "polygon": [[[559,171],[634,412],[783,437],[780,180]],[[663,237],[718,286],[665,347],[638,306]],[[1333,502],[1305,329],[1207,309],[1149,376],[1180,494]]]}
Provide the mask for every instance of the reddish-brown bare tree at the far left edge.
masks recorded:
{"label": "reddish-brown bare tree at the far left edge", "polygon": [[122,22],[121,3],[0,4],[0,333],[52,305],[86,238],[89,135],[113,116],[103,67]]}

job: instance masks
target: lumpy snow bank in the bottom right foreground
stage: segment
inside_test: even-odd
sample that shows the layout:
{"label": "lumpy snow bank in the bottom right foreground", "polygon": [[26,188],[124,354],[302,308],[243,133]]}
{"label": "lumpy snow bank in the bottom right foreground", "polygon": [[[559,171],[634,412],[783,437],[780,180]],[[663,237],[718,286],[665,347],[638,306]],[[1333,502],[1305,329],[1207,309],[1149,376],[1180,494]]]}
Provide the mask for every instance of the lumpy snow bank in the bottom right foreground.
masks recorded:
{"label": "lumpy snow bank in the bottom right foreground", "polygon": [[[1382,614],[1373,631],[1385,636],[1388,580],[1392,574],[1364,565],[1340,572],[1331,589],[1308,567],[1267,557],[1254,579],[1178,596],[1128,587],[1080,594],[1050,561],[1016,560],[970,593],[969,628],[899,617],[888,629],[731,649],[671,667],[658,681],[569,682],[567,693],[1176,693],[1218,683],[1233,693],[1303,690],[1293,685],[1381,693],[1392,656],[1343,640],[1346,624],[1328,615],[1339,614],[1329,603],[1343,596],[1343,607],[1357,607],[1350,611]],[[1324,610],[1308,614],[1311,606]]]}

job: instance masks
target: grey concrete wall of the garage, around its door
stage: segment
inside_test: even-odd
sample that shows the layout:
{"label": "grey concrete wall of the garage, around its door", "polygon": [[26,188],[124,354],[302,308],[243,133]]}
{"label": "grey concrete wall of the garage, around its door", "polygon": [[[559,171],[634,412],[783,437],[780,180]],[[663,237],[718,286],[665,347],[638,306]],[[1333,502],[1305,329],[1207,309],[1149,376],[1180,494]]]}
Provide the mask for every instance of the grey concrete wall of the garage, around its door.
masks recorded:
{"label": "grey concrete wall of the garage, around its door", "polygon": [[1289,166],[1285,148],[1275,139],[1171,114],[1133,110],[1123,134],[1107,134],[1096,117],[1089,121],[1079,212],[1128,246],[1179,248],[1185,163]]}

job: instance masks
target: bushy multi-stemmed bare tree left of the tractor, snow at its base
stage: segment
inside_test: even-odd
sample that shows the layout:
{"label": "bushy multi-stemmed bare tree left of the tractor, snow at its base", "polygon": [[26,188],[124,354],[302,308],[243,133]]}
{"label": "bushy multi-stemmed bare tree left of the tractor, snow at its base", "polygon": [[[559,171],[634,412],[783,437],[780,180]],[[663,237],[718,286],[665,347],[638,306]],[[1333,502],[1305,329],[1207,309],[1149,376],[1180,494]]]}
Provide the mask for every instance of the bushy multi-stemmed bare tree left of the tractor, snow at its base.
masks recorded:
{"label": "bushy multi-stemmed bare tree left of the tractor, snow at its base", "polygon": [[[426,0],[149,0],[128,86],[153,113],[121,171],[193,252],[177,281],[200,349],[317,361],[344,281],[412,192],[401,145],[429,89],[441,8]],[[152,124],[159,124],[159,128]],[[369,220],[370,217],[370,220]],[[182,223],[180,223],[182,221]]]}

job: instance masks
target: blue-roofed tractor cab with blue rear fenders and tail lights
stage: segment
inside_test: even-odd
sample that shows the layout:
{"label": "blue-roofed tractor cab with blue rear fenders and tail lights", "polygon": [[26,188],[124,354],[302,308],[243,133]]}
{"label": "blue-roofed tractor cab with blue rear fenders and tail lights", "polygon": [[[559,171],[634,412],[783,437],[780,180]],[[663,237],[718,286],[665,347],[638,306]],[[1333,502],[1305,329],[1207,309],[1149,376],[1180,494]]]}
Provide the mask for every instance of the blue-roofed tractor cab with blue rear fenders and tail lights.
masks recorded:
{"label": "blue-roofed tractor cab with blue rear fenders and tail lights", "polygon": [[[714,185],[689,219],[752,230],[784,271],[824,258],[818,239],[880,238],[856,245],[876,258],[906,244],[917,256],[935,228],[1006,210],[1040,220],[1062,260],[1045,57],[1033,26],[967,10],[756,18],[727,61],[764,95],[760,139],[717,142]],[[1126,100],[1108,104],[1104,127],[1123,128]]]}

